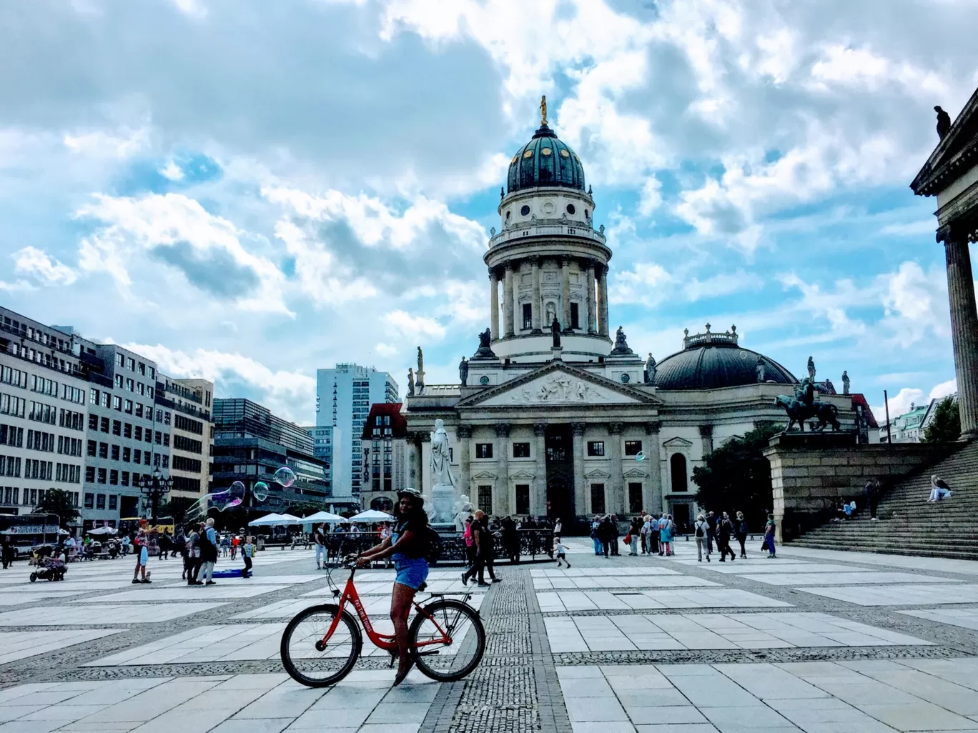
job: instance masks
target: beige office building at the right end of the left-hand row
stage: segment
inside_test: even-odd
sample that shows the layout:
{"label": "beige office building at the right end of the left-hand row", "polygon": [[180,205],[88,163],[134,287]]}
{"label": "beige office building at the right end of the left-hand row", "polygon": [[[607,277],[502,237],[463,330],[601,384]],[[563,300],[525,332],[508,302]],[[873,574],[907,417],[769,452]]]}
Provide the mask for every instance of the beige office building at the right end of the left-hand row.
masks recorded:
{"label": "beige office building at the right end of the left-hand row", "polygon": [[171,498],[197,499],[208,492],[214,446],[211,408],[214,383],[206,379],[156,377],[156,409],[172,413]]}

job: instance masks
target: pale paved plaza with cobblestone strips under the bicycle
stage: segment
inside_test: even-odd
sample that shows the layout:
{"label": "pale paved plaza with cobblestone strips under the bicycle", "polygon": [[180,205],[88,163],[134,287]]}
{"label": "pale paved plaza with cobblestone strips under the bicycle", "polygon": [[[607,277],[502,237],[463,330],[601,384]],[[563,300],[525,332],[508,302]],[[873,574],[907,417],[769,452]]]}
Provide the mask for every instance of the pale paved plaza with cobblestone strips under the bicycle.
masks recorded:
{"label": "pale paved plaza with cobblestone strips under the bicycle", "polygon": [[[310,551],[262,552],[254,578],[209,587],[182,582],[179,560],[154,559],[149,585],[128,558],[53,583],[19,564],[0,574],[0,733],[978,732],[978,563],[568,543],[571,569],[503,564],[502,583],[468,586],[488,640],[466,680],[416,670],[397,688],[369,641],[331,689],[283,671],[288,620],[331,600]],[[392,571],[357,578],[387,631]],[[429,585],[463,588],[447,568]]]}

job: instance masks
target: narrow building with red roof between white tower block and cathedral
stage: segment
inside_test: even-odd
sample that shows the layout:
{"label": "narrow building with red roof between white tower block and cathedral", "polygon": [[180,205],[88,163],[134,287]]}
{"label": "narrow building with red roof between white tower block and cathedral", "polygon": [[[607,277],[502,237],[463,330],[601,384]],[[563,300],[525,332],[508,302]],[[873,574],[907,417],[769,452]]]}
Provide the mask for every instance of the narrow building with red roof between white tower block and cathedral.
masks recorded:
{"label": "narrow building with red roof between white tower block and cathedral", "polygon": [[363,507],[392,511],[397,492],[407,485],[408,421],[401,403],[378,403],[370,409],[361,433]]}

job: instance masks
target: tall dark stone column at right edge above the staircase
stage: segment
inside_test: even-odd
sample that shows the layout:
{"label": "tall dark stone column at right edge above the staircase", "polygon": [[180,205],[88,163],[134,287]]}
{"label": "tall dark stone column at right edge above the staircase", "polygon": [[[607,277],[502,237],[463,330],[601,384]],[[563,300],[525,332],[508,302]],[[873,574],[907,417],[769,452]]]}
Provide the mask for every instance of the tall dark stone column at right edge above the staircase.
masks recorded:
{"label": "tall dark stone column at right edge above the staircase", "polygon": [[957,409],[961,438],[978,438],[978,313],[975,311],[971,256],[965,237],[942,228],[948,264],[948,299],[951,303],[951,341],[955,350]]}

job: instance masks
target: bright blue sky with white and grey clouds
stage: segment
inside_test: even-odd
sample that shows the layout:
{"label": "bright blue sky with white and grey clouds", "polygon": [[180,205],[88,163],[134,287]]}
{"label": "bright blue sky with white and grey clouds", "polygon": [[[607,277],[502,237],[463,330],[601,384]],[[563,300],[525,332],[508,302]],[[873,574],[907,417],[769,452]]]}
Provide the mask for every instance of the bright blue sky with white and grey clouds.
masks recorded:
{"label": "bright blue sky with white and grey clouds", "polygon": [[314,421],[315,372],[458,383],[539,124],[581,158],[611,327],[736,324],[882,418],[955,389],[936,201],[973,0],[0,4],[0,302]]}

